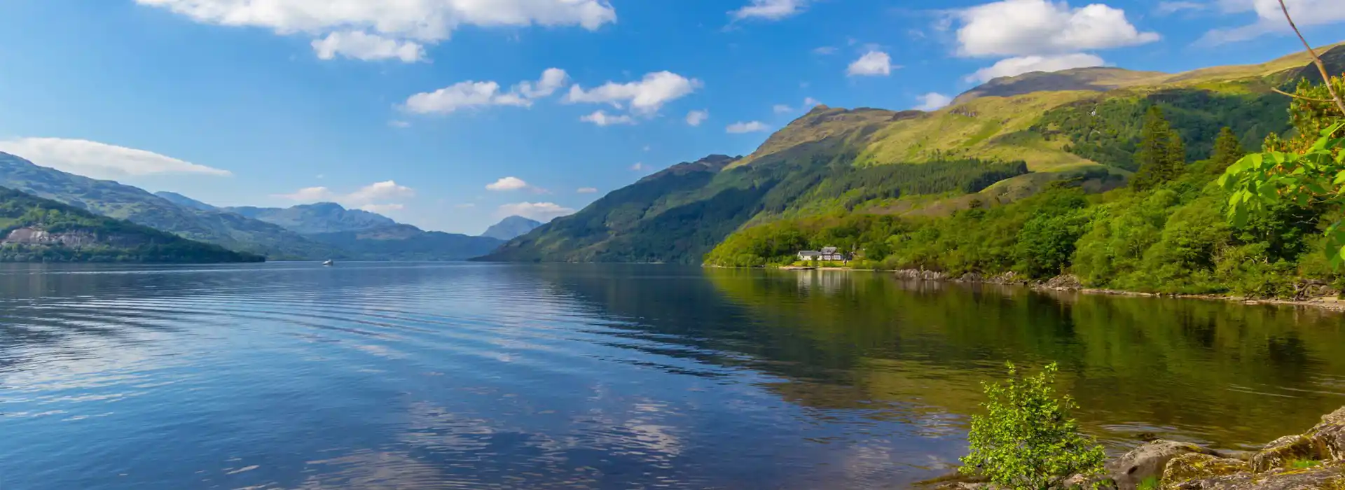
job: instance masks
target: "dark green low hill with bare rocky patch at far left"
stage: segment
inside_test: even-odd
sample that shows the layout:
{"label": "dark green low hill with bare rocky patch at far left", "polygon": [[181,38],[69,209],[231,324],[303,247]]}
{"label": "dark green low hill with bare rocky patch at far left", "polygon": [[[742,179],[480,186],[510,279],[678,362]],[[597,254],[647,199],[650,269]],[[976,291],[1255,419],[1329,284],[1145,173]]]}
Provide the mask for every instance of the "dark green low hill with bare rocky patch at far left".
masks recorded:
{"label": "dark green low hill with bare rocky patch at far left", "polygon": [[125,220],[0,188],[0,262],[261,262]]}

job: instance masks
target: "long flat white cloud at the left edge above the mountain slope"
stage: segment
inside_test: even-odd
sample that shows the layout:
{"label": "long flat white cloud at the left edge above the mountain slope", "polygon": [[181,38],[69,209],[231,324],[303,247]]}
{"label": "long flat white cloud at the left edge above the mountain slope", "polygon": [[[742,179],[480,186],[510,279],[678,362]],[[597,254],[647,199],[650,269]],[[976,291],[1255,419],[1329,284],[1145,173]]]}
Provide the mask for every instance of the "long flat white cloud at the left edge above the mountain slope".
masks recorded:
{"label": "long flat white cloud at the left edge above the mountain slope", "polygon": [[122,179],[164,173],[233,175],[229,170],[182,161],[153,152],[89,140],[17,138],[0,141],[0,152],[17,154],[38,165],[93,179]]}

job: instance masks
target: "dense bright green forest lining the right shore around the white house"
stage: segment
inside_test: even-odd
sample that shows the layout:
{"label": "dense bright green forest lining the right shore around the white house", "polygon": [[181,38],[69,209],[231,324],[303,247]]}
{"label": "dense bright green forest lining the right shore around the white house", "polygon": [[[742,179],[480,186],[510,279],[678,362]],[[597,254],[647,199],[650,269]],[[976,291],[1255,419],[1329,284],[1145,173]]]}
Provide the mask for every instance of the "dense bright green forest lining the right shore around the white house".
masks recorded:
{"label": "dense bright green forest lining the right shore around the white house", "polygon": [[[1321,91],[1306,83],[1298,90],[1314,97]],[[1289,103],[1279,97],[1287,111],[1270,102],[1259,110],[1280,119],[1287,113],[1287,121],[1259,117],[1243,128],[1206,128],[1193,140],[1163,105],[1147,105],[1139,115],[1127,111],[1126,121],[1135,119],[1126,124],[1134,126],[1135,141],[1098,153],[1135,170],[1127,188],[1089,195],[1064,180],[1029,199],[974,205],[946,217],[833,213],[783,220],[734,234],[706,263],[779,266],[792,263],[798,250],[835,246],[854,252],[859,268],[1036,279],[1073,274],[1093,287],[1297,297],[1306,285],[1340,282],[1321,252],[1322,230],[1340,209],[1329,201],[1284,201],[1229,222],[1229,193],[1219,184],[1244,156],[1248,134],[1272,128],[1263,136],[1267,148],[1295,149],[1341,119],[1321,101]],[[1192,162],[1193,148],[1201,160]]]}

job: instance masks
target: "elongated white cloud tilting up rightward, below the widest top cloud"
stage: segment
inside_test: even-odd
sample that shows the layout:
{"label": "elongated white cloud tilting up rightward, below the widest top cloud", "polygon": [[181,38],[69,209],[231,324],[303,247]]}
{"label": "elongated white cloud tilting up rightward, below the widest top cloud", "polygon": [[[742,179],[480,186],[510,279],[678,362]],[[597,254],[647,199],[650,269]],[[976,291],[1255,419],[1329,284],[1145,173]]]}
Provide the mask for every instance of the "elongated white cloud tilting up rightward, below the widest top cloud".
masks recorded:
{"label": "elongated white cloud tilting up rightward, below the widest top cloud", "polygon": [[429,93],[418,93],[402,105],[417,114],[449,114],[459,109],[487,106],[531,107],[533,99],[547,97],[565,85],[569,75],[561,68],[547,68],[538,82],[521,82],[502,91],[496,82],[459,82]]}

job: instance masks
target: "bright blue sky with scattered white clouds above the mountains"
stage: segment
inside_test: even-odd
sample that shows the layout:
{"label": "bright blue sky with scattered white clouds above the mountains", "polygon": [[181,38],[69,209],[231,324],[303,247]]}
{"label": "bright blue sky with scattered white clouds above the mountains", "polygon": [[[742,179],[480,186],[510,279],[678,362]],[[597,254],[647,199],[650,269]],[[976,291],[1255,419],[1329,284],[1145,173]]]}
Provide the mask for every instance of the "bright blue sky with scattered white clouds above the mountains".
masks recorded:
{"label": "bright blue sky with scattered white clouds above the mountains", "polygon": [[[1317,44],[1342,40],[1345,1],[1290,8]],[[1275,0],[8,0],[0,150],[217,205],[335,200],[479,234],[751,153],[816,102],[935,109],[1028,70],[1264,62],[1299,48],[1276,15]]]}

